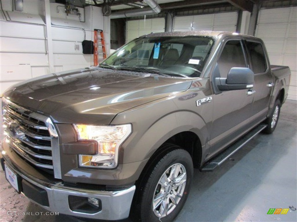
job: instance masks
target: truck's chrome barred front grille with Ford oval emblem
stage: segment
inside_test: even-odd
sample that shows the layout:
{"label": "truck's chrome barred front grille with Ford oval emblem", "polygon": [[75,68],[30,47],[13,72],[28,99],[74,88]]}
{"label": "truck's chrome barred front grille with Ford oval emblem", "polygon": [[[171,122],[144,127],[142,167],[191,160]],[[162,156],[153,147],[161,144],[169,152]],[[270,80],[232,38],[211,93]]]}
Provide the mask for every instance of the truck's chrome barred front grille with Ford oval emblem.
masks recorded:
{"label": "truck's chrome barred front grille with Ford oval emblem", "polygon": [[[52,152],[54,146],[58,144],[58,135],[50,118],[7,100],[3,107],[3,120],[7,142],[21,158],[47,172],[56,171],[53,166]],[[59,147],[55,148],[57,154]],[[57,163],[60,164],[60,160],[57,160]],[[60,166],[58,165],[57,168],[55,177],[59,178]]]}

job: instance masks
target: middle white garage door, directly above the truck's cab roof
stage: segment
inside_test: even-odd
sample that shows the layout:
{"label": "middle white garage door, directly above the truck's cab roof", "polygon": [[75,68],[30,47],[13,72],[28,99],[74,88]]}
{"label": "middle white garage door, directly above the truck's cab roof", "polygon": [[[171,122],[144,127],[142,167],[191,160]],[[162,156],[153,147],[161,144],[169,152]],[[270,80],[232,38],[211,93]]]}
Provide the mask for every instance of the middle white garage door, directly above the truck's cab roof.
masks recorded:
{"label": "middle white garage door, directly above the truck's cab roof", "polygon": [[237,17],[237,12],[174,17],[173,30],[210,30],[235,32]]}

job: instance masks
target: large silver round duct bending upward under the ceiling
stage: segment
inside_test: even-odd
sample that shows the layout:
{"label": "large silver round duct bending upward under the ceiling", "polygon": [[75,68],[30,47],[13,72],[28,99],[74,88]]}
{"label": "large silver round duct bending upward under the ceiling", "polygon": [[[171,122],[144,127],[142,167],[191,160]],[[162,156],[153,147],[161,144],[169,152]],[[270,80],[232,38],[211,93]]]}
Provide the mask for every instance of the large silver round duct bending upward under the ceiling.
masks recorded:
{"label": "large silver round duct bending upward under the ceiling", "polygon": [[149,9],[134,9],[124,12],[114,12],[111,13],[110,19],[116,18],[126,18],[126,17],[134,17],[134,16],[142,16],[142,15],[153,15],[161,12],[160,6],[154,0],[143,0],[149,7]]}

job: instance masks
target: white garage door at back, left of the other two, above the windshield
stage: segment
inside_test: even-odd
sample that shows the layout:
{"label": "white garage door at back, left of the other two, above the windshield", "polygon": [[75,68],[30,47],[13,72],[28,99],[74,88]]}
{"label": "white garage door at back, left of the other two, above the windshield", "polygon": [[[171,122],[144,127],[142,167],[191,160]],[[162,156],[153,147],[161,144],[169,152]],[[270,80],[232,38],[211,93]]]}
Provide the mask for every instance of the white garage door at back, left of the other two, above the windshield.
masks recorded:
{"label": "white garage door at back, left of the other two, above the windshield", "polygon": [[128,21],[126,25],[126,43],[151,32],[164,32],[165,18]]}

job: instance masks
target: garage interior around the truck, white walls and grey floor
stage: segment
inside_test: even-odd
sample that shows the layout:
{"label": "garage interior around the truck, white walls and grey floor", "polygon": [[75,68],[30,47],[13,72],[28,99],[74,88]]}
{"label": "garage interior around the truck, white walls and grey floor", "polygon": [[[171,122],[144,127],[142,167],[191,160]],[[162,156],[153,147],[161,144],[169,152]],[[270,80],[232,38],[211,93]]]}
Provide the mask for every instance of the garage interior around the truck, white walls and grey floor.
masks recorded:
{"label": "garage interior around the truck, white walls and grey floor", "polygon": [[[106,54],[151,32],[213,30],[263,39],[272,65],[291,70],[288,98],[273,134],[256,136],[211,173],[195,170],[175,221],[297,221],[297,0],[1,0],[0,95],[51,73],[91,67],[82,42],[103,30]],[[103,60],[99,47],[98,61]],[[2,124],[1,124],[2,125]],[[1,133],[1,140],[2,140]],[[85,221],[45,212],[18,195],[1,170],[1,221]],[[290,208],[267,215],[270,208]],[[129,221],[129,219],[123,220]]]}

